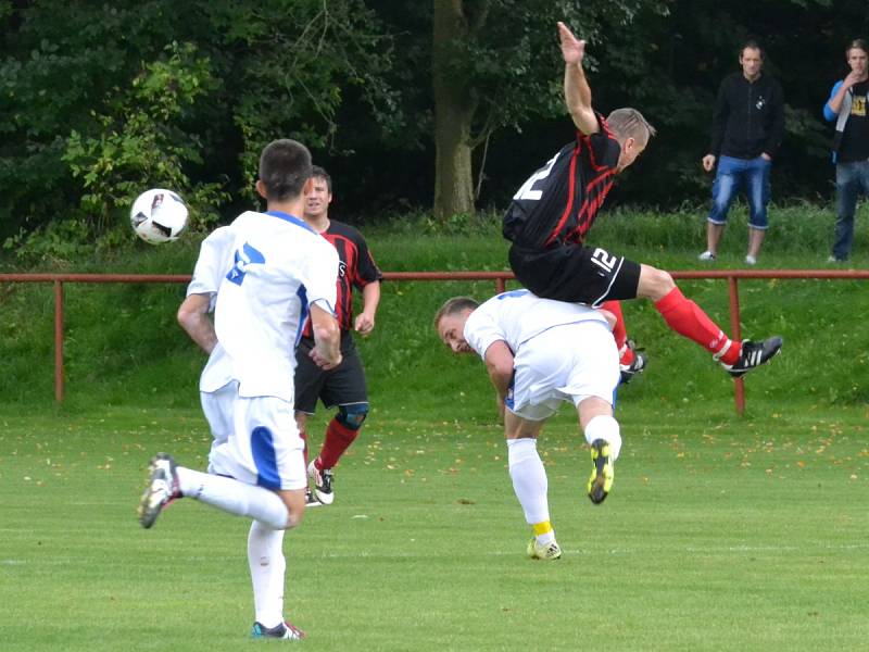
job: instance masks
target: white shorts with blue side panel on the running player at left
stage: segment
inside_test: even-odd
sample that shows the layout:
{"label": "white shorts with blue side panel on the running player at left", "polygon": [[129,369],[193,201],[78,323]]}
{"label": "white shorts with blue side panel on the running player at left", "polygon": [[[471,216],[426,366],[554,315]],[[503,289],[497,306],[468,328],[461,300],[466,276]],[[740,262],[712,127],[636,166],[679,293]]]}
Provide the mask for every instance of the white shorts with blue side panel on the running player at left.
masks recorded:
{"label": "white shorts with blue side panel on the running player at left", "polygon": [[212,447],[209,471],[266,489],[307,487],[304,443],[292,403],[275,397],[245,399],[236,393],[234,430]]}

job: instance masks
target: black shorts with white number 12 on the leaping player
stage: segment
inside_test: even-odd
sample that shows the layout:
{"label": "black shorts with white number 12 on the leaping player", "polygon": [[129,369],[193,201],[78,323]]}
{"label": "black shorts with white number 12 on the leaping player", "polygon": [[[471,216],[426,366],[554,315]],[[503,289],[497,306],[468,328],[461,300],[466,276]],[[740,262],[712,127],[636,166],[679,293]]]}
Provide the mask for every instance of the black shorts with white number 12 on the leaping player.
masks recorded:
{"label": "black shorts with white number 12 on the leaping player", "polygon": [[513,244],[509,266],[538,297],[599,306],[612,299],[635,299],[640,264],[581,244],[528,249]]}

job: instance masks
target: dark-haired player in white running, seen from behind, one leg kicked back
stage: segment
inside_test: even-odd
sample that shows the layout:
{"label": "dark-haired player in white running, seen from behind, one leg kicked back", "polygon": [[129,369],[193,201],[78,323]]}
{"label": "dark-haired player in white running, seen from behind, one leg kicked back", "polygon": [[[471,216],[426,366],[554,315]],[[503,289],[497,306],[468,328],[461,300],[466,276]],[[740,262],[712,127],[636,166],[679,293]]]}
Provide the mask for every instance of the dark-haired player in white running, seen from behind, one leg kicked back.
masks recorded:
{"label": "dark-haired player in white running, seen from behind, one leg kicked back", "polygon": [[194,288],[204,292],[196,293],[213,290],[212,281],[202,280],[214,278],[205,271],[209,265],[228,267],[217,289],[214,328],[209,331],[207,319],[182,325],[190,326],[188,331],[203,348],[212,347],[212,355],[217,346],[223,349],[225,361],[210,360],[201,387],[230,378],[235,400],[230,410],[219,412],[231,412],[232,425],[226,440],[212,449],[212,474],[179,466],[171,455],[159,453],[139,505],[139,522],[146,528],[169,502],[185,497],[254,519],[248,557],[255,638],[304,638],[284,619],[281,530],[297,526],[304,513],[307,477],[291,381],[295,338],[308,315],[315,339],[312,359],[324,368],[341,362],[335,318],[338,255],[297,217],[304,209],[311,168],[311,154],[301,143],[269,143],[260,159],[256,183],[267,211],[243,213],[227,234],[210,242],[214,251],[226,251],[217,241],[227,238],[231,263],[223,253],[212,258],[214,251],[202,252],[202,276],[194,281],[203,285]]}

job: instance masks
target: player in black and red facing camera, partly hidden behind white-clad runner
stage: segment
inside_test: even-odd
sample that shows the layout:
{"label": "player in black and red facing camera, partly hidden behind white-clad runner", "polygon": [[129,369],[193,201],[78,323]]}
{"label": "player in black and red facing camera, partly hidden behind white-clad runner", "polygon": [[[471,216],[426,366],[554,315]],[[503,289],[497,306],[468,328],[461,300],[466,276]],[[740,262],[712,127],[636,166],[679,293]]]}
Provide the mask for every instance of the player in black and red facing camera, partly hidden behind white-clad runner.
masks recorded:
{"label": "player in black and red facing camera, partly hidden behind white-clad runner", "polygon": [[[343,361],[329,371],[318,367],[308,356],[314,340],[310,324],[305,326],[295,354],[295,422],[307,447],[307,415],[314,414],[317,399],[326,408],[338,408],[338,413],[326,427],[319,454],[307,467],[317,501],[331,504],[335,500],[332,468],[358,436],[368,414],[365,369],[350,331],[354,329],[360,335],[367,336],[374,329],[383,275],[374,262],[362,234],[348,224],[329,218],[329,204],[332,201],[331,177],[323,167],[315,165],[312,178],[313,190],[306,197],[304,221],[338,251],[340,263],[336,312],[338,325],[341,327]],[[355,319],[353,288],[362,290],[362,312]]]}

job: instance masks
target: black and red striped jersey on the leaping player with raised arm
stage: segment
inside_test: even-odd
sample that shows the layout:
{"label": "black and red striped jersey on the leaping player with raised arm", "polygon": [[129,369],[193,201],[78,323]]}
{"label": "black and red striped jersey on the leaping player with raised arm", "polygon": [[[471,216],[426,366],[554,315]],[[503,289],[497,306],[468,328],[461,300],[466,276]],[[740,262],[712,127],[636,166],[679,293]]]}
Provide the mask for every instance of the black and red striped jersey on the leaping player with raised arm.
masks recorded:
{"label": "black and red striped jersey on the leaping player with raised arm", "polygon": [[621,146],[601,114],[601,129],[563,147],[519,188],[503,234],[521,247],[582,243],[613,187]]}

